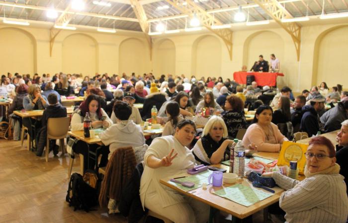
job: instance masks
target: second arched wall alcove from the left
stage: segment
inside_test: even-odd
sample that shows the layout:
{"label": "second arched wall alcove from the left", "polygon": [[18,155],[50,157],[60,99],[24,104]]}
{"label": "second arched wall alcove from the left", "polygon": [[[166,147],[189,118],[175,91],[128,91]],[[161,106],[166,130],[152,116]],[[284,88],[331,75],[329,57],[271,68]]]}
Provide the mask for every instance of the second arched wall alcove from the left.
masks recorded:
{"label": "second arched wall alcove from the left", "polygon": [[62,45],[62,71],[93,76],[98,72],[98,44],[86,34],[72,34]]}

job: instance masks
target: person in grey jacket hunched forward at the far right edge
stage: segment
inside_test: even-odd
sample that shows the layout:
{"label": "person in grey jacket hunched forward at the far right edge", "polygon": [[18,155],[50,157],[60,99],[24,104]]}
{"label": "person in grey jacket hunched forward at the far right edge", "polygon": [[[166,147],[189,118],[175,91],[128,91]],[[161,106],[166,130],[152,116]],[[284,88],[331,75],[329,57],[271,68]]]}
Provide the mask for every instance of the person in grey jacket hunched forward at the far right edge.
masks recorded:
{"label": "person in grey jacket hunched forward at the far right edge", "polygon": [[320,121],[324,124],[327,132],[332,132],[341,128],[341,122],[348,119],[348,97],[343,98],[334,108],[326,111]]}

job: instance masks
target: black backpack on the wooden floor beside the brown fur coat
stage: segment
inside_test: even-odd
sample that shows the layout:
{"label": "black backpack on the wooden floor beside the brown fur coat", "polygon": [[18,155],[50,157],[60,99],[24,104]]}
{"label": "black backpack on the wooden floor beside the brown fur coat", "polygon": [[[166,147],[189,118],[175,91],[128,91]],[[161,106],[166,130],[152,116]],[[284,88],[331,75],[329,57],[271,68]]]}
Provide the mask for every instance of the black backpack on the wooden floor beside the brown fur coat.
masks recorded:
{"label": "black backpack on the wooden floor beside the brown fur coat", "polygon": [[82,209],[88,212],[98,204],[97,189],[89,186],[81,174],[73,173],[65,200],[69,203],[69,207],[74,207],[74,211]]}

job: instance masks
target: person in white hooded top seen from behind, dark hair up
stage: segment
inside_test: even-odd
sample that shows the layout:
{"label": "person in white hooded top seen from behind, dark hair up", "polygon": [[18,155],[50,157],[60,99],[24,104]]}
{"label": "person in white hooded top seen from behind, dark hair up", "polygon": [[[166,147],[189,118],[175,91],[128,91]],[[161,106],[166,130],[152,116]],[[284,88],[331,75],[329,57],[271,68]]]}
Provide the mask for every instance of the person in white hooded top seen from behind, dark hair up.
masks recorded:
{"label": "person in white hooded top seen from behind, dark hair up", "polygon": [[117,148],[126,146],[136,148],[145,144],[141,127],[129,119],[132,108],[128,103],[117,101],[112,113],[117,118],[117,124],[111,125],[111,127],[99,134],[101,142],[106,146],[110,145],[109,159]]}

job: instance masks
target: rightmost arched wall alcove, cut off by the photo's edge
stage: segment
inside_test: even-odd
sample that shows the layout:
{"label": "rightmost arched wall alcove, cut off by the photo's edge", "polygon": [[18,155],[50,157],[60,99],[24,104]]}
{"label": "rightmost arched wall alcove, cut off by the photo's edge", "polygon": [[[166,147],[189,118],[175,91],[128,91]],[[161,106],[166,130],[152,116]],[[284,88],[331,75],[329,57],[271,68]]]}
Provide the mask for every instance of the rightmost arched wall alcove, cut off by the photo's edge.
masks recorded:
{"label": "rightmost arched wall alcove, cut off by the photo's edge", "polygon": [[331,88],[348,86],[348,26],[336,26],[322,32],[314,45],[312,85],[326,82]]}

